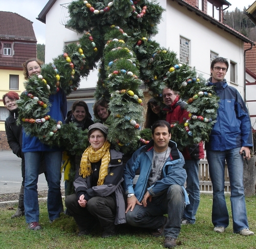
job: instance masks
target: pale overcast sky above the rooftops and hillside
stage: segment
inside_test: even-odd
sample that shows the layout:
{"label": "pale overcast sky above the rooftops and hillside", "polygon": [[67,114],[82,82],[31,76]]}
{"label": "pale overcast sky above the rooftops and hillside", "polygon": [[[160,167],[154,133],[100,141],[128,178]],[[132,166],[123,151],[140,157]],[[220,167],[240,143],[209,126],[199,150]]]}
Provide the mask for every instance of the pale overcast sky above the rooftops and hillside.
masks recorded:
{"label": "pale overcast sky above the rooftops and hillside", "polygon": [[[236,7],[243,10],[244,7],[248,8],[248,6],[254,3],[254,0],[227,1],[231,4],[228,8],[229,11],[234,10]],[[72,0],[67,0],[67,3],[70,2],[72,2]],[[33,21],[33,28],[37,42],[45,44],[45,24],[38,21],[36,17],[38,17],[39,13],[47,3],[48,0],[0,0],[0,10],[17,13]]]}

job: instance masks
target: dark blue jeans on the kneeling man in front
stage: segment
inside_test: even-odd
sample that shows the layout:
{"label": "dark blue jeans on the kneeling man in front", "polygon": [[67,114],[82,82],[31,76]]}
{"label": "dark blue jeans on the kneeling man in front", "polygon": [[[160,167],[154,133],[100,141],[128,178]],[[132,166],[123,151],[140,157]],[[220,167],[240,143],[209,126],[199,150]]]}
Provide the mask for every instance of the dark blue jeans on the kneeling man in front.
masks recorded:
{"label": "dark blue jeans on the kneeling man in front", "polygon": [[136,204],[134,210],[126,213],[126,222],[134,227],[156,229],[164,224],[164,214],[168,214],[165,237],[177,239],[181,229],[181,218],[185,208],[184,191],[179,185],[171,185],[166,193],[147,201],[147,206]]}

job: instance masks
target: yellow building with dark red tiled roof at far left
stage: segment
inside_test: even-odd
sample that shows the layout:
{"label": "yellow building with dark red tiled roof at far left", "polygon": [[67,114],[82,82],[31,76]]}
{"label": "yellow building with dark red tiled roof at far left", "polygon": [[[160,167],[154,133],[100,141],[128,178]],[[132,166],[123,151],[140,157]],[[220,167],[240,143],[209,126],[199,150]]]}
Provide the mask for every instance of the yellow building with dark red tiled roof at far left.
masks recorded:
{"label": "yellow building with dark red tiled roof at far left", "polygon": [[24,91],[23,66],[36,58],[36,37],[33,22],[12,12],[0,11],[0,149],[10,149],[5,133],[9,111],[2,96],[9,91],[19,95]]}

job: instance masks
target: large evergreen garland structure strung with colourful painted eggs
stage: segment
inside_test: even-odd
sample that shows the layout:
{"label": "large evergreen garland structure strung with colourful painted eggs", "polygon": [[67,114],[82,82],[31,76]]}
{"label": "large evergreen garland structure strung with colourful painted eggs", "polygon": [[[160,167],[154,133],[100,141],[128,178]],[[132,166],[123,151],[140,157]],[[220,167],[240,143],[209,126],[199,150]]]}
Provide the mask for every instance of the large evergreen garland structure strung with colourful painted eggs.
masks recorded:
{"label": "large evergreen garland structure strung with colourful painted eggs", "polygon": [[130,154],[147,143],[141,135],[149,133],[141,133],[142,84],[161,104],[166,86],[187,101],[190,120],[172,129],[172,140],[179,149],[208,141],[218,98],[195,69],[180,64],[174,52],[152,40],[163,11],[156,1],[72,2],[67,26],[84,35],[79,42],[68,44],[53,63],[43,65],[41,75],[25,82],[26,90],[17,104],[26,133],[49,146],[64,145],[70,154],[81,154],[88,146],[87,130],[51,119],[48,97],[59,88],[69,95],[100,62],[95,99],[110,102],[108,140],[117,150]]}

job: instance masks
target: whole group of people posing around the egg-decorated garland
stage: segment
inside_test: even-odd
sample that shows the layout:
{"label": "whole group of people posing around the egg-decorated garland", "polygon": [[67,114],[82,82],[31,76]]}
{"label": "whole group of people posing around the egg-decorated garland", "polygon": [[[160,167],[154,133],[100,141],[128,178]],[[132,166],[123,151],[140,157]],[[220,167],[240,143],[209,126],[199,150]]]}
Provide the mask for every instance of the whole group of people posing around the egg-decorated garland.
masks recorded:
{"label": "whole group of people posing around the egg-decorated garland", "polygon": [[[28,77],[40,73],[37,60],[25,63]],[[250,159],[252,135],[250,119],[239,92],[228,86],[224,79],[228,61],[219,57],[210,66],[213,85],[220,97],[217,122],[212,127],[209,142],[205,144],[213,189],[212,223],[214,231],[223,233],[229,224],[224,197],[225,160],[231,186],[231,210],[233,232],[254,235],[249,230],[243,188],[243,155]],[[26,76],[26,75],[25,75]],[[151,128],[152,140],[133,153],[124,163],[123,154],[108,142],[111,116],[108,102],[95,103],[94,123],[88,106],[76,101],[66,123],[75,122],[82,129],[88,128],[90,146],[77,158],[75,166],[74,193],[65,200],[66,207],[78,225],[78,236],[90,234],[96,227],[102,228],[102,238],[114,236],[117,225],[128,223],[134,227],[151,229],[151,235],[164,236],[164,247],[176,246],[182,224],[194,224],[200,202],[199,161],[204,158],[203,143],[188,146],[179,151],[171,140],[170,124],[183,123],[189,119],[187,105],[173,89],[162,92],[163,110],[154,99],[148,101],[145,127]],[[18,96],[3,98],[10,110],[9,123],[15,125],[15,100]],[[66,116],[66,97],[61,90],[49,98],[52,103],[50,115],[56,120]],[[15,115],[14,115],[15,114]],[[165,119],[165,120],[164,120]],[[23,134],[20,127],[9,129],[15,134],[19,147],[11,146],[13,152],[25,159],[26,170],[22,188],[25,188],[24,207],[18,206],[20,215],[25,208],[26,222],[32,230],[41,229],[37,200],[37,179],[40,165],[45,166],[48,181],[48,213],[50,221],[59,217],[63,210],[60,194],[60,168],[62,148],[50,148],[35,137]],[[24,156],[23,156],[24,153]],[[23,160],[24,161],[24,160]],[[42,163],[43,162],[43,163]],[[136,184],[134,179],[136,178]],[[23,166],[24,172],[24,166]],[[186,183],[186,189],[184,184]],[[20,192],[22,194],[22,191]],[[167,214],[167,216],[165,216]]]}

